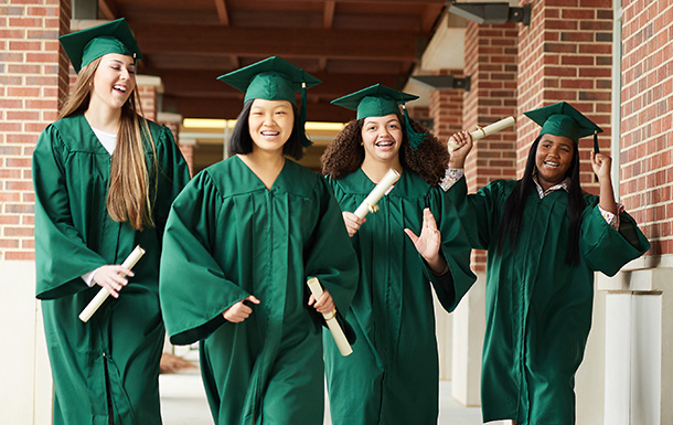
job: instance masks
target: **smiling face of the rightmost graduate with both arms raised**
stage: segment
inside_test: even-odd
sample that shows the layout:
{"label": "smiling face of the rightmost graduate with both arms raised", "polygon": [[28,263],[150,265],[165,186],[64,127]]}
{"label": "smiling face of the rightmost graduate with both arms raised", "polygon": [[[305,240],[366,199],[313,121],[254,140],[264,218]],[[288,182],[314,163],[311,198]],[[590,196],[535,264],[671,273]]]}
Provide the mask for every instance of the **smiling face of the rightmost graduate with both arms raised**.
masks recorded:
{"label": "smiling face of the rightmost graduate with both arms raised", "polygon": [[543,135],[535,152],[537,182],[547,190],[560,183],[573,163],[575,142],[563,136]]}

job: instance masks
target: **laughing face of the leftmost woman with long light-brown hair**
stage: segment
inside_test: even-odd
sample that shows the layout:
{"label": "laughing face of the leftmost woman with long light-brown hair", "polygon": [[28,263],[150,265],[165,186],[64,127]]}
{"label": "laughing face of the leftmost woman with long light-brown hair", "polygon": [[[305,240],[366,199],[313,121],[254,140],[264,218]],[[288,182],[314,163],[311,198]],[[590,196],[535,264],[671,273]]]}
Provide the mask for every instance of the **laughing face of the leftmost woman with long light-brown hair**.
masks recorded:
{"label": "laughing face of the leftmost woman with long light-brown hair", "polygon": [[131,56],[108,53],[100,57],[90,89],[90,102],[120,109],[136,88],[136,65]]}

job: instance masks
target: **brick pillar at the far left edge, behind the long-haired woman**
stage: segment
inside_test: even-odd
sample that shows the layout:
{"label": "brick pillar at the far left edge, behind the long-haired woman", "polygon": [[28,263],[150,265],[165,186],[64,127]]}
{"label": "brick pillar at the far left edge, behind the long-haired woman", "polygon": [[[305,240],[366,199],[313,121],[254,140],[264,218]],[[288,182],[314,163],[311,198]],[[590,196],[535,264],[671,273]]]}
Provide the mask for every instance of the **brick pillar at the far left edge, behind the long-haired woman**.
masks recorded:
{"label": "brick pillar at the far left edge, behind the long-haired woman", "polygon": [[70,14],[68,1],[0,6],[0,261],[34,258],[31,156],[67,89],[57,36]]}

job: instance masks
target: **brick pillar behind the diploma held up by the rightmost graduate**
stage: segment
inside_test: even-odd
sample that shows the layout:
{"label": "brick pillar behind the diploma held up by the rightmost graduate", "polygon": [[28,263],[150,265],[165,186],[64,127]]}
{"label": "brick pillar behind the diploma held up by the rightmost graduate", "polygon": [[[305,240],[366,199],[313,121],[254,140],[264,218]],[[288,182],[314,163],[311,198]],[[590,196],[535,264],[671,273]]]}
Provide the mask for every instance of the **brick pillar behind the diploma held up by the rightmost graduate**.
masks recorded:
{"label": "brick pillar behind the diploma held up by the rightmost graduate", "polygon": [[[464,94],[462,127],[473,130],[504,117],[516,117],[517,29],[515,24],[478,25],[466,30],[464,72],[471,89]],[[476,192],[492,180],[514,179],[516,129],[508,128],[474,144],[466,163],[468,189]],[[485,272],[487,255],[474,251],[472,268]]]}

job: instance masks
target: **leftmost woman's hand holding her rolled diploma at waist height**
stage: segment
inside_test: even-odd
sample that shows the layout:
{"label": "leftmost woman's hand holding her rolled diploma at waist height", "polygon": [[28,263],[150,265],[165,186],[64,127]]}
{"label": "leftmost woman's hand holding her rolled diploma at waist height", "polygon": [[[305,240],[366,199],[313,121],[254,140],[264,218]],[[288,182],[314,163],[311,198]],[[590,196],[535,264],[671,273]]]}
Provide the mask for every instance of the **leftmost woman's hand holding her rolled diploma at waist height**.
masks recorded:
{"label": "leftmost woman's hand holding her rolled diploma at waist height", "polygon": [[[128,280],[124,277],[133,276],[131,268],[133,268],[136,263],[138,263],[143,255],[145,249],[138,245],[120,266],[103,266],[98,268],[94,275],[94,281],[100,285],[102,288],[94,299],[92,299],[84,310],[82,310],[79,320],[86,323],[110,294],[113,294],[115,298],[119,297],[119,290],[128,284]],[[114,273],[116,273],[117,276],[113,276]]]}

